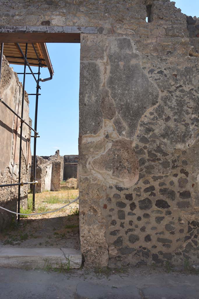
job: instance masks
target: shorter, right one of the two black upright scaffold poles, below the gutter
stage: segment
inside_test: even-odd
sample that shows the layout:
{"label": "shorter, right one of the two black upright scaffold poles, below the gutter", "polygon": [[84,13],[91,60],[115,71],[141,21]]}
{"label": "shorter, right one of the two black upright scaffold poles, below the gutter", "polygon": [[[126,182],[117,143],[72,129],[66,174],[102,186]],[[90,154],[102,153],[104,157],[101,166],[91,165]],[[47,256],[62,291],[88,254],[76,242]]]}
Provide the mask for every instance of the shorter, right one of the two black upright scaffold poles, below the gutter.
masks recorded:
{"label": "shorter, right one of the two black upright scaffold poles, below the gutter", "polygon": [[[38,82],[40,76],[40,64],[38,68]],[[39,87],[36,87],[36,103],[35,103],[35,131],[37,131],[37,112],[38,112],[38,97],[39,97]],[[33,150],[33,180],[36,180],[36,143],[37,135],[34,134],[34,150]],[[33,210],[35,210],[35,184],[33,184]]]}

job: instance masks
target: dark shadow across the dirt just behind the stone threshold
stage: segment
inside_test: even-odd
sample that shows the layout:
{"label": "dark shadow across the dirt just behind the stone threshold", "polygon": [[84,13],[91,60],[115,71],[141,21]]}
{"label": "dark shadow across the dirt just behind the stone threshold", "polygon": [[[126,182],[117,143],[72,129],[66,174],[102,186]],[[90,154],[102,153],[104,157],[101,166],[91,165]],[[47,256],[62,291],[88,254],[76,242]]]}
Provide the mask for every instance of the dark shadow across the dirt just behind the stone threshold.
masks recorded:
{"label": "dark shadow across the dirt just behind the stone threshold", "polygon": [[21,219],[0,234],[0,246],[21,248],[80,248],[79,216]]}

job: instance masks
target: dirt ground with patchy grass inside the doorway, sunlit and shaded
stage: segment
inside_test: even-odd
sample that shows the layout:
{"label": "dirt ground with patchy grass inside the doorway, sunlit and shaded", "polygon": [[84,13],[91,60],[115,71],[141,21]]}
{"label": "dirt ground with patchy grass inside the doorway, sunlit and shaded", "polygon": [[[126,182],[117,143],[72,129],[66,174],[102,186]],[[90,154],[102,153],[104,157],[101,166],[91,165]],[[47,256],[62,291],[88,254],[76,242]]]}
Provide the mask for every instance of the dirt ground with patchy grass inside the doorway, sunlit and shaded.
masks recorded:
{"label": "dirt ground with patchy grass inside the doorway, sunlit and shaded", "polygon": [[[61,183],[61,191],[36,193],[36,213],[56,210],[78,197],[74,180]],[[28,198],[28,210],[32,213],[32,194]],[[80,248],[78,201],[55,213],[21,218],[19,225],[13,221],[10,228],[0,234],[0,246]]]}

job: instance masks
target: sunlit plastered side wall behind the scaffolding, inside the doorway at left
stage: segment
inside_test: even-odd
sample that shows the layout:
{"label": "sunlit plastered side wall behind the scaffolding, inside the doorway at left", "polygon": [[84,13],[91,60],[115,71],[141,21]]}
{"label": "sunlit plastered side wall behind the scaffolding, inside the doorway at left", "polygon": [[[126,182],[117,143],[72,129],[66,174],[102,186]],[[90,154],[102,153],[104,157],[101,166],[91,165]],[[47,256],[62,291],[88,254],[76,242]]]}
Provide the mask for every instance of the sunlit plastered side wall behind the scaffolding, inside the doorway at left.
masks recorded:
{"label": "sunlit plastered side wall behind the scaffolding, inside the doorway at left", "polygon": [[[0,97],[16,113],[21,115],[22,84],[18,76],[10,68],[9,63],[3,57]],[[29,101],[25,92],[24,97],[24,119],[27,123],[29,118]],[[18,183],[19,166],[19,141],[20,141],[20,120],[0,103],[0,184]],[[23,125],[22,157],[21,157],[21,181],[30,181],[30,129]],[[27,193],[29,185],[21,187],[21,207],[27,206]],[[0,205],[4,208],[17,211],[18,187],[0,188]],[[0,209],[0,231],[9,226],[16,217],[13,214]]]}

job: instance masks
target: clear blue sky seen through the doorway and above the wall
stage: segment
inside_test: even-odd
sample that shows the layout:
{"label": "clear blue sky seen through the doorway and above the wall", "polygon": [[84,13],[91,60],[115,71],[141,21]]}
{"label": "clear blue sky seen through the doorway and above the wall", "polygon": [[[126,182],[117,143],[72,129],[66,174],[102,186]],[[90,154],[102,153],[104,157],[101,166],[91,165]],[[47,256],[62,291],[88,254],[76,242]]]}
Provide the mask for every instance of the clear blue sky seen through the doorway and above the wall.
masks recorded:
{"label": "clear blue sky seen through the doorway and above the wall", "polygon": [[[175,6],[182,13],[199,17],[198,0],[176,0]],[[79,63],[80,44],[47,44],[53,64],[53,80],[41,83],[38,106],[37,155],[53,155],[57,149],[61,155],[78,154],[79,131]],[[14,71],[22,68],[13,65]],[[34,67],[33,67],[34,69]],[[37,71],[36,69],[34,71]],[[41,77],[48,77],[47,69],[41,69]],[[23,77],[19,75],[20,81]],[[36,84],[27,75],[25,89],[36,92]],[[30,117],[34,120],[35,96],[29,96]],[[32,138],[33,153],[33,138]]]}

